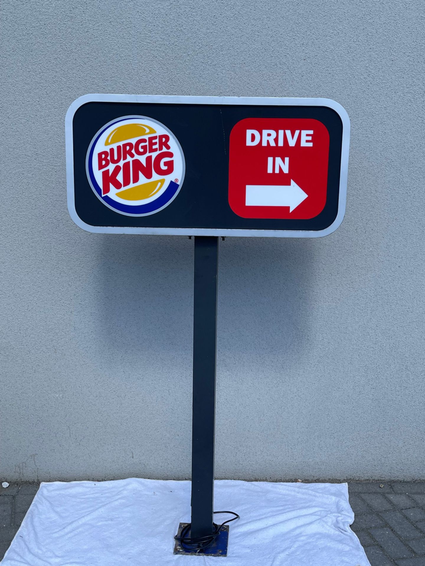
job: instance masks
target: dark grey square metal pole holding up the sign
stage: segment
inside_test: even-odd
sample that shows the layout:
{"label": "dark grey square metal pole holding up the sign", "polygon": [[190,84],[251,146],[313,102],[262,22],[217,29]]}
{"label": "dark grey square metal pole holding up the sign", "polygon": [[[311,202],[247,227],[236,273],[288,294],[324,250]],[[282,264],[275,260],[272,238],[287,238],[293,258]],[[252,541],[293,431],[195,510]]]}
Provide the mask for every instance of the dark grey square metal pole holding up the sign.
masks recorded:
{"label": "dark grey square metal pole holding up the sign", "polygon": [[195,236],[193,299],[192,527],[213,533],[218,237]]}

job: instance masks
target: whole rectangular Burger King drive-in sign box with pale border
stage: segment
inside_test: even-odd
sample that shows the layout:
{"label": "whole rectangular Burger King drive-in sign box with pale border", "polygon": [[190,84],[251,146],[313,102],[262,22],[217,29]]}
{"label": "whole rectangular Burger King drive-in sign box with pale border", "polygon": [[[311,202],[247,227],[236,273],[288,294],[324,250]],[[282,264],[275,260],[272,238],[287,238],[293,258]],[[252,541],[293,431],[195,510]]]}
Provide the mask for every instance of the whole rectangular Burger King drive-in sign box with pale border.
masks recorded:
{"label": "whole rectangular Burger King drive-in sign box with pale border", "polygon": [[326,98],[82,96],[66,114],[69,212],[97,233],[330,234],[349,138]]}

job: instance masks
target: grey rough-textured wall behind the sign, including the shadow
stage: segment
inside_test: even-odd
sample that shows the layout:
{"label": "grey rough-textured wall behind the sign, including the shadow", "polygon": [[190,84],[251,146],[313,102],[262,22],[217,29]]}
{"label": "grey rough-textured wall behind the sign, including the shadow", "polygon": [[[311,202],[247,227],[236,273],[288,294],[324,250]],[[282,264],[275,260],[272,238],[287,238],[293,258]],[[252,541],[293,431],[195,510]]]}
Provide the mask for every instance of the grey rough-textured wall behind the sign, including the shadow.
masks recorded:
{"label": "grey rough-textured wall behind the sign, including the shadow", "polygon": [[346,108],[341,228],[220,242],[216,475],[424,478],[422,0],[2,11],[0,477],[190,473],[193,241],[66,209],[66,110],[107,92]]}

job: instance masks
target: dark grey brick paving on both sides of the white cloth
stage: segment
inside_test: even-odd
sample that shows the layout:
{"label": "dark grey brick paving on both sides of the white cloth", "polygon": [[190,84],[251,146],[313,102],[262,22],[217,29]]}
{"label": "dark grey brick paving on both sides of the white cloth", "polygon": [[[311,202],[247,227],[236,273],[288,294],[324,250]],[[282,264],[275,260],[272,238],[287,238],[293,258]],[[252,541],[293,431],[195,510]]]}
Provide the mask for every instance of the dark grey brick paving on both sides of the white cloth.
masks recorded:
{"label": "dark grey brick paving on both sides of the white cloth", "polygon": [[[38,487],[0,487],[0,559]],[[372,566],[425,566],[425,482],[351,482],[349,494],[351,528]]]}

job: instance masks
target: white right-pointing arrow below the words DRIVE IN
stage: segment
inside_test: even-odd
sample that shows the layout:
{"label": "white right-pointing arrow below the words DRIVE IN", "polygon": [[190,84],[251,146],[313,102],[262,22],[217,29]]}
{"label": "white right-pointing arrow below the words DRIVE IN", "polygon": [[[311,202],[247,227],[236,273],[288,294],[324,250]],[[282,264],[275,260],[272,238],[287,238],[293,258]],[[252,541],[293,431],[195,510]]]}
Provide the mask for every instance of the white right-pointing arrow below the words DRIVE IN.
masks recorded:
{"label": "white right-pointing arrow below the words DRIVE IN", "polygon": [[247,185],[247,207],[289,207],[292,212],[308,194],[291,179],[291,185]]}

